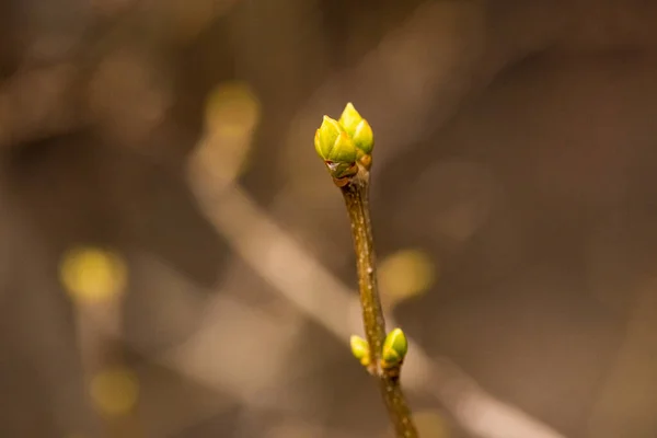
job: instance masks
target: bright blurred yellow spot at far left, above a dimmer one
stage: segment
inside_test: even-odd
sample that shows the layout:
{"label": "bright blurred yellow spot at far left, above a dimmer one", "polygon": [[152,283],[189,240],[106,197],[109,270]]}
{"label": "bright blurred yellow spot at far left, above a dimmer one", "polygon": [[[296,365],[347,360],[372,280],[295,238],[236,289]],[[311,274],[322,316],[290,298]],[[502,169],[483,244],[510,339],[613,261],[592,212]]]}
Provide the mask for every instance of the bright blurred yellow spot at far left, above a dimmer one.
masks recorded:
{"label": "bright blurred yellow spot at far left, above a dimmer one", "polygon": [[96,247],[77,247],[65,253],[59,277],[76,301],[99,302],[125,290],[127,270],[118,254]]}

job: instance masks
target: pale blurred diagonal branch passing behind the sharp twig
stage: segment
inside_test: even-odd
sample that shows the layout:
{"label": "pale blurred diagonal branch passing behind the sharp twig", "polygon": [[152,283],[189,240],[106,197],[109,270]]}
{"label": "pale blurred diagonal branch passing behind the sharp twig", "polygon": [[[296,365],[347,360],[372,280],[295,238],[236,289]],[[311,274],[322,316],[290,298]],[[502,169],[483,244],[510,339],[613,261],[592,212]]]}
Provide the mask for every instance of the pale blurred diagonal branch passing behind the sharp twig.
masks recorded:
{"label": "pale blurred diagonal branch passing behind the sharp twig", "polygon": [[[207,175],[207,172],[191,174]],[[360,302],[354,293],[239,186],[196,177],[191,183],[210,222],[280,295],[341,341],[359,331],[362,324]],[[293,261],[295,269],[289,269],[290,261]],[[393,321],[391,315],[385,318]],[[413,354],[404,364],[406,387],[415,392],[433,390],[439,402],[473,436],[563,438],[549,426],[487,394],[456,367],[434,362],[412,339],[408,348]]]}

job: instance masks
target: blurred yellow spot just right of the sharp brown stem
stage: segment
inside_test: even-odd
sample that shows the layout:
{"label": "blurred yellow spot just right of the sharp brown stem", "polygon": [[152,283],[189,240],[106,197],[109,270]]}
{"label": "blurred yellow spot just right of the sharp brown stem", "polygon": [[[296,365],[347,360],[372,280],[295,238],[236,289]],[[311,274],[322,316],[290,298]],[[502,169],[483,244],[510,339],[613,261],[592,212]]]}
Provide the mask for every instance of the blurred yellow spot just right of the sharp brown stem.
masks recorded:
{"label": "blurred yellow spot just right of the sharp brown stem", "polygon": [[379,283],[387,308],[425,292],[437,277],[436,265],[420,250],[403,250],[385,257],[379,266]]}

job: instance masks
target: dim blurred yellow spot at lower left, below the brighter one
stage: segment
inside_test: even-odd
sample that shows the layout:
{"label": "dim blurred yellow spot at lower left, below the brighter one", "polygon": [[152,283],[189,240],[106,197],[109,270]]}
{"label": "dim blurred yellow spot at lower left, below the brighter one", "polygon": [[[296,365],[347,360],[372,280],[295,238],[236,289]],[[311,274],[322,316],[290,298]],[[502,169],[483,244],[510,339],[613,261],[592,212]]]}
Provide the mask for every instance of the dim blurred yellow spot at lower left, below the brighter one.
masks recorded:
{"label": "dim blurred yellow spot at lower left, below the brighter one", "polygon": [[94,406],[106,416],[129,413],[139,397],[139,381],[127,368],[99,372],[91,381],[91,399]]}

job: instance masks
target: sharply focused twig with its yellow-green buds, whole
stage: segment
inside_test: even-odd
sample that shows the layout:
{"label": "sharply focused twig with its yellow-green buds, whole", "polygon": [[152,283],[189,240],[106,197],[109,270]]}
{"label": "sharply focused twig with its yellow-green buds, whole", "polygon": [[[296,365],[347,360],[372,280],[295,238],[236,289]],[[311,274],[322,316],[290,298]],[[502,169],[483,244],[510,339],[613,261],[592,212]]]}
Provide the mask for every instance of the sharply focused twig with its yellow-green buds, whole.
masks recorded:
{"label": "sharply focused twig with its yellow-green buds, whole", "polygon": [[371,127],[350,103],[339,122],[324,116],[315,134],[315,150],[343,194],[351,221],[358,288],[367,342],[354,336],[351,351],[379,380],[381,395],[400,438],[416,438],[411,410],[400,383],[407,341],[400,328],[387,335],[377,287],[377,261],[369,211],[369,169],[373,149]]}

